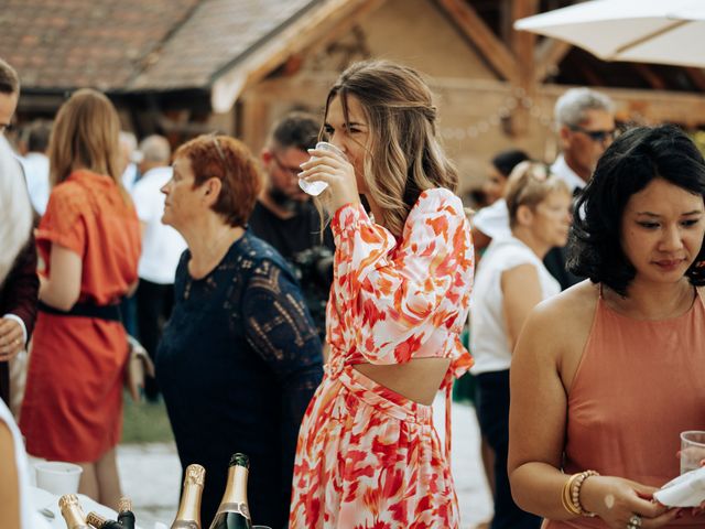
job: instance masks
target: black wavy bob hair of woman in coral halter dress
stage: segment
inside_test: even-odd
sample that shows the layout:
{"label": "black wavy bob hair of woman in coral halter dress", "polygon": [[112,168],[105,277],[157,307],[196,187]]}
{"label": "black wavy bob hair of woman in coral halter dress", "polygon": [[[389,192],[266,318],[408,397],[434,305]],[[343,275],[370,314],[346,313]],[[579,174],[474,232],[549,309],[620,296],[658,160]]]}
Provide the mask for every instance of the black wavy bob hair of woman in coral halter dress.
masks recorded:
{"label": "black wavy bob hair of woman in coral halter dress", "polygon": [[[705,161],[679,128],[637,127],[620,136],[597,162],[595,174],[575,204],[567,267],[626,296],[636,276],[621,247],[621,219],[631,195],[663,179],[705,199]],[[705,240],[685,272],[705,284]]]}

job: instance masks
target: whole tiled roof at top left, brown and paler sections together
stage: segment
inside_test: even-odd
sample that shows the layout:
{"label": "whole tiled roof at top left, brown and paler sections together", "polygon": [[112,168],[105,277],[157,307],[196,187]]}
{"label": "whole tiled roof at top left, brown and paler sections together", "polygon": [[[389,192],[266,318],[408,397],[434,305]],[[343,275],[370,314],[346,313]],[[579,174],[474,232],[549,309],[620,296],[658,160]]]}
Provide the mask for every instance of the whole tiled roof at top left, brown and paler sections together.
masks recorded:
{"label": "whole tiled roof at top left, brown and paler sections together", "polygon": [[207,88],[322,0],[0,0],[24,89]]}

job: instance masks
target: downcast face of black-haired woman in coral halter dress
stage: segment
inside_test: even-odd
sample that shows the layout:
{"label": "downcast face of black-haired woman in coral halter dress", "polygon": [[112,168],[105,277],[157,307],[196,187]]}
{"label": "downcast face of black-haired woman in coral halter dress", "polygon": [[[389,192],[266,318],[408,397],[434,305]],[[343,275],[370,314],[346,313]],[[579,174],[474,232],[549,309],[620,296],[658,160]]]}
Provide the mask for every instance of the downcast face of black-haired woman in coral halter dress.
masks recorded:
{"label": "downcast face of black-haired woman in coral halter dress", "polygon": [[663,179],[631,195],[622,214],[622,251],[640,280],[679,281],[701,251],[704,236],[703,197]]}

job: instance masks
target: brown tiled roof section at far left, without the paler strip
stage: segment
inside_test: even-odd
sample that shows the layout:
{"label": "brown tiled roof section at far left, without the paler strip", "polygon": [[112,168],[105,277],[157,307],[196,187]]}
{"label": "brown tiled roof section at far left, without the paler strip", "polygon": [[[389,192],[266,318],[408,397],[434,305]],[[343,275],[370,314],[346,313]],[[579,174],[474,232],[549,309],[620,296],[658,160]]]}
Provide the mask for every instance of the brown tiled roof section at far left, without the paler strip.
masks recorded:
{"label": "brown tiled roof section at far left, without the paler strip", "polygon": [[199,0],[0,0],[0,57],[24,88],[121,90]]}

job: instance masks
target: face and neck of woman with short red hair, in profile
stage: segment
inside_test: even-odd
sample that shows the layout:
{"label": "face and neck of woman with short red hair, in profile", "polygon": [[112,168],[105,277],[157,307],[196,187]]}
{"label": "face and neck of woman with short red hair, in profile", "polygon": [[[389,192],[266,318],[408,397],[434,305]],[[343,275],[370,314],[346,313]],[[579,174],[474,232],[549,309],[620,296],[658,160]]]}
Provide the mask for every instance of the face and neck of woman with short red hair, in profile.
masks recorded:
{"label": "face and neck of woman with short red hair, in profile", "polygon": [[172,168],[174,170],[172,180],[161,190],[166,195],[162,223],[181,231],[180,227],[187,226],[189,220],[203,210],[203,206],[199,207],[203,201],[200,201],[199,188],[194,188],[191,160],[186,156],[176,158]]}

